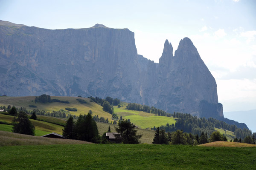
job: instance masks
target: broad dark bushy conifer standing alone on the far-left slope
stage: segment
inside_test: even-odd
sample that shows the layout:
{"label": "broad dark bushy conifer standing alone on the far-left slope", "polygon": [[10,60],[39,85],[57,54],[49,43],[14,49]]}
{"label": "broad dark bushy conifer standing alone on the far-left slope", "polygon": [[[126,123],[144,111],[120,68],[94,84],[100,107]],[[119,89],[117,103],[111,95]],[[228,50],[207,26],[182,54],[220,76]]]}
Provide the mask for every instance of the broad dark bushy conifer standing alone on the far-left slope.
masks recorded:
{"label": "broad dark bushy conifer standing alone on the far-left slope", "polygon": [[17,118],[16,116],[14,117],[13,123],[15,125],[12,127],[12,132],[25,135],[35,135],[35,127],[32,125],[31,121],[29,121],[25,112],[20,111]]}

